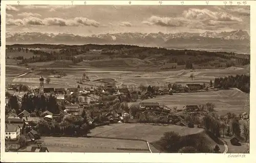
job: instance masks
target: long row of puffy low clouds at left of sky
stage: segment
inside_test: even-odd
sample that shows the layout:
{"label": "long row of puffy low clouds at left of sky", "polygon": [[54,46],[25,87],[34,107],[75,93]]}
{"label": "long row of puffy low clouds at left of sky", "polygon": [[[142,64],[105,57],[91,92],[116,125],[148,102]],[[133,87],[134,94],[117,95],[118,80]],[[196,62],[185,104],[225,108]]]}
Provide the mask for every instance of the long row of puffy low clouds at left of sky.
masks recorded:
{"label": "long row of puffy low clouds at left of sky", "polygon": [[40,19],[34,16],[24,19],[7,19],[7,25],[16,25],[16,26],[26,26],[26,25],[58,25],[58,26],[95,26],[100,25],[99,22],[91,20],[85,17],[76,17],[74,19],[62,19],[57,17],[50,17],[45,19]]}

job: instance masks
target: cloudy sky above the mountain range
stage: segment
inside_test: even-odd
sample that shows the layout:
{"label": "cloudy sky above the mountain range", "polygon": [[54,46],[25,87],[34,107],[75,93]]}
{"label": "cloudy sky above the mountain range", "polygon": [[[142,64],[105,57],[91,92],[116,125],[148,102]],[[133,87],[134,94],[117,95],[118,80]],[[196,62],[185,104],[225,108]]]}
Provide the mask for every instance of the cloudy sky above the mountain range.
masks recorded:
{"label": "cloudy sky above the mountain range", "polygon": [[177,33],[250,30],[247,6],[6,6],[6,32]]}

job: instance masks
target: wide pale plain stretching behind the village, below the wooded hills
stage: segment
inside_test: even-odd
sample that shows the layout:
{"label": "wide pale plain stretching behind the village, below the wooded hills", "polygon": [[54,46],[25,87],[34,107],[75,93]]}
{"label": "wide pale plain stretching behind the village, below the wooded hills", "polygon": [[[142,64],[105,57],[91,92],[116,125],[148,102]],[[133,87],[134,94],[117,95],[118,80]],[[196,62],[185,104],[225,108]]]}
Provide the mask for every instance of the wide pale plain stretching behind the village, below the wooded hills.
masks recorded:
{"label": "wide pale plain stretching behind the village, below the wooded hills", "polygon": [[[49,64],[56,64],[53,62],[49,62]],[[67,63],[68,64],[68,63]],[[178,71],[158,71],[156,72],[144,72],[144,71],[129,71],[129,70],[103,70],[103,69],[88,69],[88,68],[71,68],[59,65],[60,67],[52,67],[47,69],[55,69],[62,72],[65,72],[67,76],[63,76],[62,78],[54,78],[52,74],[47,73],[44,71],[37,70],[32,74],[27,74],[22,77],[31,78],[31,79],[18,79],[20,81],[9,81],[9,82],[24,82],[28,85],[38,82],[33,78],[38,78],[41,75],[44,77],[52,77],[52,81],[50,84],[65,82],[62,85],[70,85],[70,86],[77,86],[77,81],[82,77],[83,72],[85,72],[91,81],[100,78],[114,78],[116,79],[117,85],[124,84],[127,86],[135,86],[139,87],[139,85],[153,85],[153,86],[163,86],[167,85],[168,83],[209,83],[209,80],[214,80],[216,77],[224,77],[228,75],[237,75],[237,74],[247,74],[249,73],[248,69],[246,68],[238,68],[238,67],[230,67],[227,69],[197,69],[194,72],[190,70],[178,70]],[[18,66],[20,67],[20,66]],[[46,68],[46,67],[45,67]],[[45,69],[42,68],[42,69]],[[17,68],[18,69],[18,68]],[[7,75],[13,75],[16,72],[16,69],[11,69],[6,72]],[[195,78],[192,80],[189,76],[194,74]],[[97,82],[87,83],[84,84],[88,86],[92,85],[100,85]]]}

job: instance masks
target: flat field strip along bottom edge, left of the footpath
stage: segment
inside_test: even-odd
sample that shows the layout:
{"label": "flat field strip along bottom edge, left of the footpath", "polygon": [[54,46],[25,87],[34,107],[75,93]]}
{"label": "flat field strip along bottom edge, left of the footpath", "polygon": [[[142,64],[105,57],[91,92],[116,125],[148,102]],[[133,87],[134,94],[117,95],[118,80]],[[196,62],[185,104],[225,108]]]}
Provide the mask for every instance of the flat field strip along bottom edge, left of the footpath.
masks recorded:
{"label": "flat field strip along bottom edge, left of the footpath", "polygon": [[70,137],[43,137],[40,141],[50,152],[150,152],[143,141]]}

